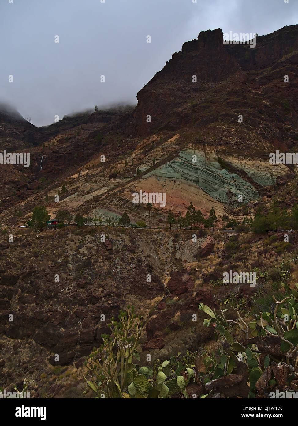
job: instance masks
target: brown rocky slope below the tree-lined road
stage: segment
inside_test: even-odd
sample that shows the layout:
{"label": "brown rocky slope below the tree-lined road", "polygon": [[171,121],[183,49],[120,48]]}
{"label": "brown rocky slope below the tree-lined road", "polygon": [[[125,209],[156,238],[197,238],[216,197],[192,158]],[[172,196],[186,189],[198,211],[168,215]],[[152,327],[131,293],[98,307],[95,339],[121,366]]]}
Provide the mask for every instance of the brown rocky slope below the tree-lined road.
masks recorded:
{"label": "brown rocky slope below the tree-lined road", "polygon": [[[148,353],[152,362],[167,359],[187,348],[198,352],[199,368],[204,350],[214,347],[199,303],[240,303],[251,318],[269,309],[272,291],[281,291],[282,262],[292,265],[291,285],[298,277],[298,235],[284,243],[280,233],[211,234],[193,242],[192,232],[74,227],[38,235],[19,230],[9,243],[2,236],[2,385],[10,389],[28,377],[35,396],[81,397],[85,356],[128,304],[147,324],[142,359]],[[222,273],[230,269],[256,271],[256,286],[224,285]]]}

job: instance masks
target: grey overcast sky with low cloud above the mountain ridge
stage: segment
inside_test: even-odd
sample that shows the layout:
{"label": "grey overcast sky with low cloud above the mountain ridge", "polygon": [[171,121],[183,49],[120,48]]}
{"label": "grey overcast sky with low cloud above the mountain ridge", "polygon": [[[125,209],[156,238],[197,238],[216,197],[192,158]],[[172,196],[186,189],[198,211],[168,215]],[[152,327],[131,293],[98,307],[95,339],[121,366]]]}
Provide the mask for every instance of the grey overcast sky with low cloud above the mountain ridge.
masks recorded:
{"label": "grey overcast sky with low cloud above the mountain ridge", "polygon": [[0,0],[0,101],[37,127],[96,104],[136,104],[201,31],[264,35],[298,23],[298,0],[9,1]]}

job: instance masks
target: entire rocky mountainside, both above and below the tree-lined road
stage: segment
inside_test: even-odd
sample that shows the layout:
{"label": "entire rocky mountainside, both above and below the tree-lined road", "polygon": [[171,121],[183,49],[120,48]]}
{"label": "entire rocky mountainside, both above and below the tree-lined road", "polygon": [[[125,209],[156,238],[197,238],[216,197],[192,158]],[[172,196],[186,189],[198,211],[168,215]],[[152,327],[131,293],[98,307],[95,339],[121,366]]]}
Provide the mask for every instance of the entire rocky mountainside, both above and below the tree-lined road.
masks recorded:
{"label": "entire rocky mountainside, both above and below the tree-lined road", "polygon": [[[140,190],[166,195],[164,207],[152,207],[152,227],[165,228],[170,209],[184,216],[190,200],[205,217],[214,207],[219,225],[224,215],[242,217],[239,194],[246,205],[241,215],[258,207],[267,212],[272,203],[292,207],[297,168],[268,159],[275,149],[297,150],[297,40],[298,26],[257,37],[255,49],[224,45],[220,29],[202,32],[139,92],[133,111],[79,114],[40,129],[0,113],[1,150],[31,155],[28,169],[0,167],[1,383],[21,384],[28,376],[37,383],[37,396],[47,386],[59,394],[52,386],[59,380],[68,386],[59,368],[80,368],[108,331],[101,315],[109,320],[128,303],[148,319],[143,348],[167,350],[165,357],[179,345],[197,350],[197,336],[199,344],[212,337],[202,321],[193,331],[191,314],[199,302],[214,307],[233,294],[255,303],[251,288],[214,282],[234,267],[275,267],[283,234],[272,236],[276,251],[262,237],[243,234],[231,257],[229,236],[217,232],[200,233],[194,244],[193,232],[184,230],[74,226],[33,234],[15,226],[26,223],[37,205],[52,218],[62,208],[104,221],[126,212],[131,222],[148,225],[148,208],[132,203]],[[66,193],[56,203],[62,183]],[[287,244],[290,259],[297,236]]]}

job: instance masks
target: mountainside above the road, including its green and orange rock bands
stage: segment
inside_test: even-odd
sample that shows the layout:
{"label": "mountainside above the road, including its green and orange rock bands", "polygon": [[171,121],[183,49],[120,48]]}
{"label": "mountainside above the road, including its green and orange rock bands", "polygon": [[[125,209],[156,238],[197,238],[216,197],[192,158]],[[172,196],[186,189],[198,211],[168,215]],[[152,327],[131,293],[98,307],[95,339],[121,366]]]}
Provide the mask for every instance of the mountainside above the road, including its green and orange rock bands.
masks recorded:
{"label": "mountainside above the road, including its green and orange rock bands", "polygon": [[[133,222],[147,221],[148,211],[132,204],[132,194],[158,191],[167,197],[165,208],[153,206],[159,226],[168,210],[183,214],[190,199],[205,215],[213,206],[221,217],[239,194],[245,203],[268,196],[288,172],[268,164],[269,153],[295,149],[298,141],[297,40],[298,26],[257,37],[255,48],[224,44],[220,29],[201,32],[138,93],[133,111],[78,114],[41,129],[18,121],[32,134],[31,166],[23,173],[19,166],[12,174],[9,166],[1,169],[0,209],[22,199],[27,220],[48,193],[51,214],[64,207],[118,219],[127,211]],[[3,127],[10,132],[10,126]],[[51,198],[63,182],[68,193],[58,207]]]}

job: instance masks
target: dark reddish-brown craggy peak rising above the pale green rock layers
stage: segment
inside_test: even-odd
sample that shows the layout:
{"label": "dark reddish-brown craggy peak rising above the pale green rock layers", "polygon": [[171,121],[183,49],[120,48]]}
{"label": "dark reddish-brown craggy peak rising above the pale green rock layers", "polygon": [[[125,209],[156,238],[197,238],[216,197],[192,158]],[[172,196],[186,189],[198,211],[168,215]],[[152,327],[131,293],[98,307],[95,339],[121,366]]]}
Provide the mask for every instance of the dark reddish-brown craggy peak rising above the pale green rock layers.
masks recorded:
{"label": "dark reddish-brown craggy peak rising above the pale green rock layers", "polygon": [[224,44],[220,29],[201,32],[139,91],[125,134],[191,127],[207,143],[218,144],[221,134],[236,149],[258,149],[278,139],[291,145],[297,141],[297,46],[297,25],[256,37],[255,48]]}

